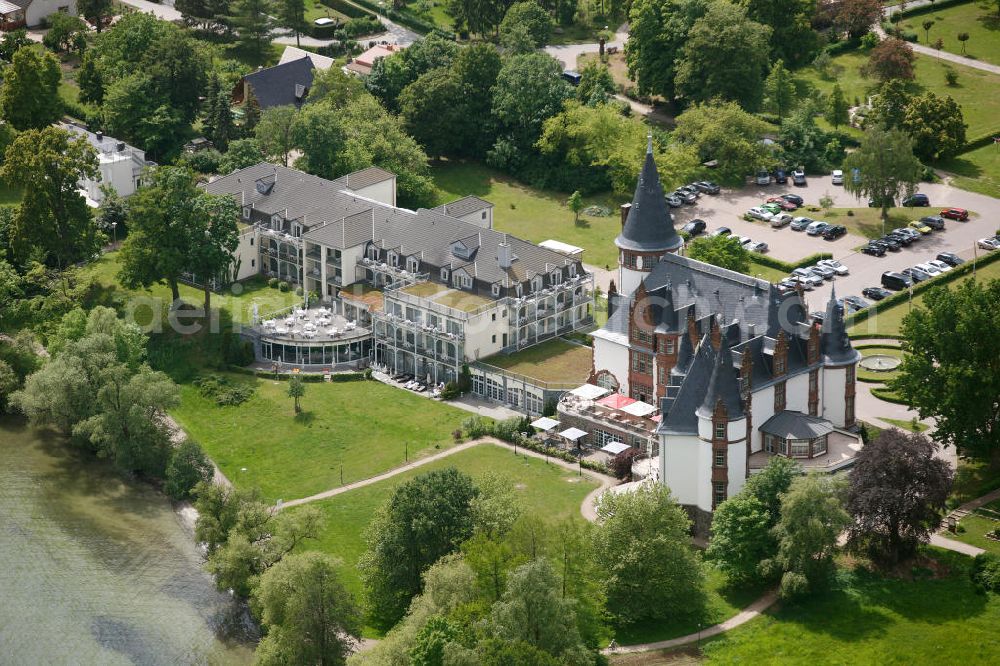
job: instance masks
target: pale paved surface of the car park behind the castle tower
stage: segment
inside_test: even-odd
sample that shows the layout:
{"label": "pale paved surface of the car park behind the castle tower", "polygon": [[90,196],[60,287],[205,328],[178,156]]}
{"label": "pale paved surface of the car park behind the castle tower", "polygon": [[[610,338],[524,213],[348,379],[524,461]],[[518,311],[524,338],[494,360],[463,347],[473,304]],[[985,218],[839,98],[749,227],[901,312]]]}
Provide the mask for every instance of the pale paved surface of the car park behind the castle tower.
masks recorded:
{"label": "pale paved surface of the car park behind the castle tower", "polygon": [[[968,222],[948,220],[944,231],[935,231],[924,236],[910,247],[904,247],[899,252],[888,252],[884,257],[872,257],[857,252],[856,248],[865,244],[867,239],[847,234],[835,241],[826,241],[819,236],[807,236],[802,231],[792,231],[785,226],[772,229],[765,222],[746,222],[743,214],[754,206],[759,206],[768,197],[794,193],[806,201],[806,205],[816,205],[819,198],[828,195],[834,201],[834,206],[865,207],[865,201],[860,201],[844,191],[839,185],[830,183],[830,176],[810,177],[805,187],[795,187],[772,183],[768,187],[748,185],[742,190],[723,190],[718,195],[704,194],[698,203],[682,208],[672,209],[674,224],[680,228],[685,222],[701,218],[708,223],[707,233],[718,227],[729,227],[738,236],[749,236],[756,241],[763,241],[770,247],[771,256],[784,261],[798,261],[816,252],[830,252],[833,257],[850,269],[850,274],[827,281],[822,287],[806,292],[810,310],[822,310],[830,297],[832,283],[836,283],[837,295],[861,295],[865,287],[879,286],[884,271],[901,271],[915,264],[933,259],[939,252],[953,252],[964,259],[973,256],[976,240],[993,235],[1000,227],[1000,201],[973,192],[966,192],[943,183],[922,183],[920,192],[927,194],[931,206],[922,210],[927,215],[936,215],[942,208],[957,206],[976,213]],[[799,213],[791,213],[793,216]],[[806,217],[822,220],[822,212],[801,213]],[[979,250],[980,256],[985,250]]]}

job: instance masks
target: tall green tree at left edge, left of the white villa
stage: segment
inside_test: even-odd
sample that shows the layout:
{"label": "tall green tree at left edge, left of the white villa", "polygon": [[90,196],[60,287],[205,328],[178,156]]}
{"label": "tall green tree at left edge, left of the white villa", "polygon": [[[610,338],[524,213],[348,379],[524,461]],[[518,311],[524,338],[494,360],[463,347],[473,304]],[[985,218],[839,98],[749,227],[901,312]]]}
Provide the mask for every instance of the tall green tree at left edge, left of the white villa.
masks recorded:
{"label": "tall green tree at left edge, left of the white villa", "polygon": [[101,234],[78,183],[97,177],[93,147],[64,129],[46,127],[19,134],[5,156],[0,179],[24,192],[8,230],[15,255],[26,260],[40,252],[59,268],[90,257]]}

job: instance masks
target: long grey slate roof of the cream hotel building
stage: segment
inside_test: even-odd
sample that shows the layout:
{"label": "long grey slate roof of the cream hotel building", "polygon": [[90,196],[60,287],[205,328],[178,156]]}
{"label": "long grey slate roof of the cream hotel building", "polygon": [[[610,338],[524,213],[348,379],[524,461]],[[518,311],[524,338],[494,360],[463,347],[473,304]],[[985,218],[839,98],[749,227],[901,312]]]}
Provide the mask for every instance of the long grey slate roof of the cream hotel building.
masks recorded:
{"label": "long grey slate roof of the cream hotel building", "polygon": [[[372,170],[365,170],[369,171]],[[377,171],[388,174],[381,169]],[[231,194],[242,205],[253,206],[267,215],[279,213],[289,220],[298,219],[306,230],[303,234],[306,240],[339,249],[375,241],[380,248],[394,249],[401,256],[416,255],[421,262],[432,266],[464,267],[471,276],[484,282],[523,282],[576,263],[558,252],[437,210],[411,211],[358,197],[346,189],[348,183],[356,184],[356,176],[326,180],[262,162],[219,178],[205,189],[212,194]],[[273,187],[268,194],[261,194],[257,181],[270,177],[274,178]],[[478,247],[471,261],[459,259],[451,252],[452,243],[463,239]],[[501,269],[497,261],[498,247],[505,241],[515,257],[509,269]]]}

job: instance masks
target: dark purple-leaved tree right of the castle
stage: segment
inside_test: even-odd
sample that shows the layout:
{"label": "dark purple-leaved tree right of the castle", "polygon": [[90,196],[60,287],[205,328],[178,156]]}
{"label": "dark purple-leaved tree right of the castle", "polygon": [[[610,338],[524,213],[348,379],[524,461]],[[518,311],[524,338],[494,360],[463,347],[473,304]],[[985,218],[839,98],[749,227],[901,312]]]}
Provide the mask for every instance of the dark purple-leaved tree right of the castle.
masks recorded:
{"label": "dark purple-leaved tree right of the castle", "polygon": [[851,548],[892,565],[930,539],[952,480],[934,449],[919,433],[891,428],[858,452],[847,493]]}

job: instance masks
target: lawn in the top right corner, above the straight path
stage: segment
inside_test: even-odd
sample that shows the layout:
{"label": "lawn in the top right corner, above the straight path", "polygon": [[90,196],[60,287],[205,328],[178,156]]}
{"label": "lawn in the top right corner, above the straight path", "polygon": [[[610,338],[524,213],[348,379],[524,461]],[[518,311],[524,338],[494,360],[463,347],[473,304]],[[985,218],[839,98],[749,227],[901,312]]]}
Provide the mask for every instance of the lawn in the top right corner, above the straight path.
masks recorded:
{"label": "lawn in the top right corner, above the straight path", "polygon": [[[941,39],[944,42],[943,50],[949,53],[1000,65],[1000,38],[997,35],[1000,16],[997,15],[995,2],[969,2],[903,19],[901,27],[915,32],[921,44],[929,45],[928,33],[924,32],[924,21],[934,21],[934,27],[929,33],[930,44]],[[962,42],[958,41],[960,32],[969,34],[964,54]]]}

